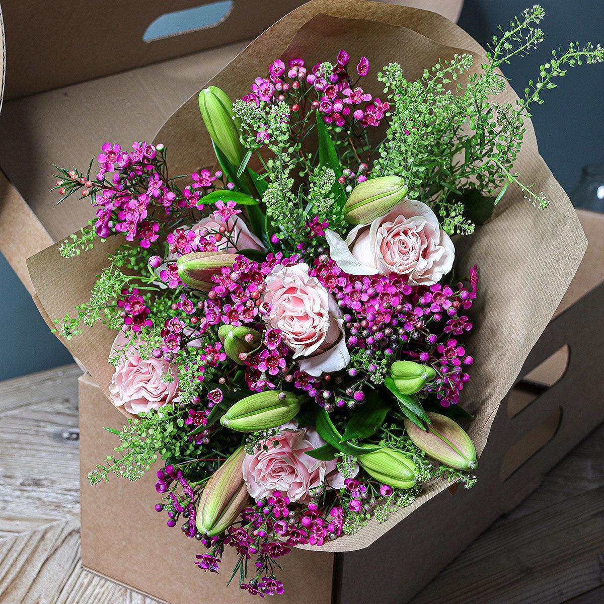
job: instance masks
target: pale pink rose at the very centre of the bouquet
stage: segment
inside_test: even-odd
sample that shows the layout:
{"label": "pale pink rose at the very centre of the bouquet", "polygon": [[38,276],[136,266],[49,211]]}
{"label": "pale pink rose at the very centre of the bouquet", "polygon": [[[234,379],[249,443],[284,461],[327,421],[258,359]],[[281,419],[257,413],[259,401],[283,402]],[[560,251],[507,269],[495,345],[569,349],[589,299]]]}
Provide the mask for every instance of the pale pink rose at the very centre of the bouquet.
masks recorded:
{"label": "pale pink rose at the very centre of the bouquet", "polygon": [[265,321],[283,332],[300,369],[312,376],[338,371],[350,361],[342,312],[335,298],[308,265],[279,265],[266,279],[264,301],[271,304]]}

